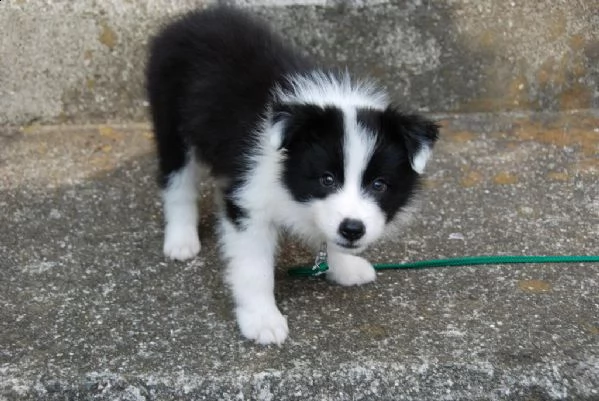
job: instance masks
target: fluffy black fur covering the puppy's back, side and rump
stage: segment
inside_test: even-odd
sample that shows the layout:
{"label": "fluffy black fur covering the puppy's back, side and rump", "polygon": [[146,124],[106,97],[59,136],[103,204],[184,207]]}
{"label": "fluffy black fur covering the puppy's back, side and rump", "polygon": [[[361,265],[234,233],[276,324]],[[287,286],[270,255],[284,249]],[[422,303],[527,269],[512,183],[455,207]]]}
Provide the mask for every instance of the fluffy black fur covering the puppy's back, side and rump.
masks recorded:
{"label": "fluffy black fur covering the puppy's back, side and rump", "polygon": [[272,89],[312,67],[240,10],[198,10],[169,24],[151,42],[147,67],[162,184],[189,145],[215,176],[238,176]]}

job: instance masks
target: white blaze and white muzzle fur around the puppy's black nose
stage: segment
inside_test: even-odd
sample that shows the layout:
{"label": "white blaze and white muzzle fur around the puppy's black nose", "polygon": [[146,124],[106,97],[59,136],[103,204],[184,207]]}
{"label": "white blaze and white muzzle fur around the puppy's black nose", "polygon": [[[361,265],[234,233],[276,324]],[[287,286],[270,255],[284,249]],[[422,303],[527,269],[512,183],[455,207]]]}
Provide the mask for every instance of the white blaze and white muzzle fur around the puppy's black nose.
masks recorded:
{"label": "white blaze and white muzzle fur around the puppy's black nose", "polygon": [[343,243],[339,225],[345,219],[359,220],[366,233],[356,245],[363,248],[383,232],[385,216],[377,203],[362,189],[362,177],[374,152],[376,138],[357,123],[355,108],[344,108],[344,177],[338,192],[315,203],[316,224],[328,242]]}

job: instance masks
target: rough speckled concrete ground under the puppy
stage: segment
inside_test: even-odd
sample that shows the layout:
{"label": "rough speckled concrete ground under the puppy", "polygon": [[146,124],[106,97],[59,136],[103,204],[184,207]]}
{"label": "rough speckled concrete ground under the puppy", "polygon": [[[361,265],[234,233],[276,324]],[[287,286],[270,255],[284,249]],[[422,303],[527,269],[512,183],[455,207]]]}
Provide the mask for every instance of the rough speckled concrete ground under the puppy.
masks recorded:
{"label": "rough speckled concrete ground under the puppy", "polygon": [[[599,112],[442,117],[426,201],[374,262],[599,253]],[[290,278],[244,341],[209,190],[201,256],[161,254],[146,125],[0,133],[2,400],[599,400],[599,264]],[[209,189],[209,188],[207,188]]]}

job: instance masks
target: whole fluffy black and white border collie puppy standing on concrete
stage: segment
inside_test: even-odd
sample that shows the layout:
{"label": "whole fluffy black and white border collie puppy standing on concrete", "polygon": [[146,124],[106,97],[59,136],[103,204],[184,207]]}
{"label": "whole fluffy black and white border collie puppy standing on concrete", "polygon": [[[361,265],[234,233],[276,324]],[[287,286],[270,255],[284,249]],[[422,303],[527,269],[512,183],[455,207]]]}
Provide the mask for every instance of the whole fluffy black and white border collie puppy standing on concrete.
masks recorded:
{"label": "whole fluffy black and white border collie puppy standing on concrete", "polygon": [[375,279],[356,256],[413,204],[438,128],[373,84],[320,69],[243,11],[215,7],[167,25],[147,89],[160,162],[164,254],[200,251],[200,167],[216,179],[219,235],[242,334],[281,344],[278,233],[328,247],[329,280]]}

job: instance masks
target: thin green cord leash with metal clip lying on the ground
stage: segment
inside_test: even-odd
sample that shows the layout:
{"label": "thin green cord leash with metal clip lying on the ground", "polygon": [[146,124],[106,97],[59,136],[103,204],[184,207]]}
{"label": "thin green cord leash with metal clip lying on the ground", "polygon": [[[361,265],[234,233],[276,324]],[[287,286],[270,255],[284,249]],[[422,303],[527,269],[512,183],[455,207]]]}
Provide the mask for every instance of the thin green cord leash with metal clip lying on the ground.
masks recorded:
{"label": "thin green cord leash with metal clip lying on the ground", "polygon": [[[322,250],[321,250],[322,252]],[[326,252],[326,251],[325,251]],[[329,270],[326,253],[316,258],[312,267],[294,267],[289,269],[290,276],[319,276]],[[464,258],[432,259],[408,263],[375,264],[376,270],[426,269],[430,267],[502,265],[512,263],[590,263],[599,262],[599,255],[581,256],[471,256]]]}

